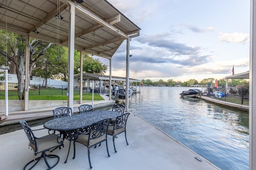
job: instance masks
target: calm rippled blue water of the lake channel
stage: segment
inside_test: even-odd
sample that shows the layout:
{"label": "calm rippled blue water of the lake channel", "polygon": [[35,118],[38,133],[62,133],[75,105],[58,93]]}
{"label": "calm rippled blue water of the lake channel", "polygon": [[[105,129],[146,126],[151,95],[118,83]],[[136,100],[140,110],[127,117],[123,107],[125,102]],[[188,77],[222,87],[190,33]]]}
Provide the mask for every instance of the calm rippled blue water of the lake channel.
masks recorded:
{"label": "calm rippled blue water of the lake channel", "polygon": [[[248,112],[182,98],[189,88],[142,87],[130,98],[138,114],[223,170],[249,168]],[[199,88],[200,89],[200,88]],[[119,100],[124,103],[124,100]]]}

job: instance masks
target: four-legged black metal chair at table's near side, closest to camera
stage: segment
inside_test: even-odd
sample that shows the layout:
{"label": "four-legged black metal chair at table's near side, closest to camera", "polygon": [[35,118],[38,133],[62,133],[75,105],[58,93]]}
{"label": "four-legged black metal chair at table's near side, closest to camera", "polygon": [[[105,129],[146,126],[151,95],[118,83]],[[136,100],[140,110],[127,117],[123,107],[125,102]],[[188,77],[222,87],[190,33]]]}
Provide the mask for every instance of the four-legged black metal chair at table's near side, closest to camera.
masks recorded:
{"label": "four-legged black metal chair at table's near side, closest to camera", "polygon": [[[77,131],[77,139],[74,141],[74,158],[75,158],[75,153],[76,153],[76,145],[75,143],[81,143],[87,147],[87,152],[88,152],[88,159],[89,159],[89,164],[90,168],[92,169],[92,164],[91,164],[91,159],[90,159],[90,150],[92,147],[96,146],[99,143],[102,143],[106,141],[106,148],[108,152],[108,140],[107,140],[107,135],[108,135],[108,125],[110,123],[110,118],[109,119],[103,119],[101,121],[98,121],[96,123],[93,123],[92,126],[90,127],[89,133],[82,133],[80,131]],[[108,157],[110,156],[108,152]]]}

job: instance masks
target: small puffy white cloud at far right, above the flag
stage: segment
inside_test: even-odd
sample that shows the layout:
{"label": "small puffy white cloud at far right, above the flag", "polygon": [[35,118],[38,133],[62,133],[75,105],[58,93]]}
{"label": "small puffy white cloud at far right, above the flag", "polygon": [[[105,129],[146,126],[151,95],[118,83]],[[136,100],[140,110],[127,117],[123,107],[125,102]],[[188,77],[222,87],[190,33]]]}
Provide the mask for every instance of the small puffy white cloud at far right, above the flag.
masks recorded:
{"label": "small puffy white cloud at far right, above the flag", "polygon": [[218,33],[218,38],[227,43],[248,43],[250,35],[247,33]]}

